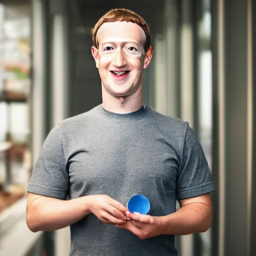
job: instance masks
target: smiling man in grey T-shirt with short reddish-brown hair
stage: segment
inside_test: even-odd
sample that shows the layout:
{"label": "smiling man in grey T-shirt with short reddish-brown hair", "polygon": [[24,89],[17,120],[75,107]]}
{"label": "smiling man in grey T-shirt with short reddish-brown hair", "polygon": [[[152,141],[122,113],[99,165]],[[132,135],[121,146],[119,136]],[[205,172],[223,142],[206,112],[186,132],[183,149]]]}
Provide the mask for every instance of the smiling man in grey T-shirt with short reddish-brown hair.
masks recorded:
{"label": "smiling man in grey T-shirt with short reddish-brown hair", "polygon": [[[211,223],[214,186],[202,148],[187,122],[142,104],[152,47],[139,15],[107,12],[93,42],[102,104],[48,134],[27,187],[27,225],[70,225],[70,255],[177,255],[174,235]],[[147,215],[127,211],[134,194],[149,199]]]}

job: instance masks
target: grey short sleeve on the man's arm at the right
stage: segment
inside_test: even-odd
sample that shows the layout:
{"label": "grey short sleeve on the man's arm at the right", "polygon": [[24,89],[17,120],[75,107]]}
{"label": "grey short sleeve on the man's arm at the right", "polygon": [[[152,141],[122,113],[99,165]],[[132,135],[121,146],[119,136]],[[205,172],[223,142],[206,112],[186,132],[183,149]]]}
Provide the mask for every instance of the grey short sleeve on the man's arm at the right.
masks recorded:
{"label": "grey short sleeve on the man's arm at the right", "polygon": [[193,130],[187,126],[182,161],[176,179],[176,197],[182,200],[214,190],[203,149]]}

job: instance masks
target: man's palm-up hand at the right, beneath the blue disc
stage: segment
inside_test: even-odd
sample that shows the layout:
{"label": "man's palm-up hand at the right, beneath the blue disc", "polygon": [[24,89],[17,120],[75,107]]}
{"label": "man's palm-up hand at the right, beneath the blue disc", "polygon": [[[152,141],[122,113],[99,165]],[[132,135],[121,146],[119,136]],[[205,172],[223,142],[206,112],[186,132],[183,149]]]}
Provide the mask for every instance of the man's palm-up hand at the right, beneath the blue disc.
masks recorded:
{"label": "man's palm-up hand at the right, beneath the blue disc", "polygon": [[126,217],[131,221],[126,221],[124,224],[116,224],[115,226],[131,231],[140,239],[160,235],[160,219],[159,217],[140,214],[138,212],[125,212]]}

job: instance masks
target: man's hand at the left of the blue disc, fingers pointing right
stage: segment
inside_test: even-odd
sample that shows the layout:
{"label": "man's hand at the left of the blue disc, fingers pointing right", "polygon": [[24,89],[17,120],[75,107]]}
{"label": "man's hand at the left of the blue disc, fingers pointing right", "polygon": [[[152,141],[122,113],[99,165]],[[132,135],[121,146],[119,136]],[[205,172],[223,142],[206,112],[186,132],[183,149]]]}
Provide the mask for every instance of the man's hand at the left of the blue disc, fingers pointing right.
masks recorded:
{"label": "man's hand at the left of the blue disc, fingers pointing right", "polygon": [[87,195],[89,209],[99,220],[107,224],[123,224],[127,208],[106,194]]}

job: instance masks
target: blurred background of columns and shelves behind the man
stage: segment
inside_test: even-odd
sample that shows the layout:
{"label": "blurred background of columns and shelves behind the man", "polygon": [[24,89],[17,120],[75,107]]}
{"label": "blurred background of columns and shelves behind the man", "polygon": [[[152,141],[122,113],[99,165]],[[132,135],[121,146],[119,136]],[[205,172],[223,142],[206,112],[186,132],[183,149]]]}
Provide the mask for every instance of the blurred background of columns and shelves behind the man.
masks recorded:
{"label": "blurred background of columns and shelves behind the man", "polygon": [[27,228],[25,188],[50,129],[102,102],[91,30],[117,7],[150,27],[144,104],[189,121],[216,187],[179,255],[256,255],[255,0],[0,0],[0,255],[68,255],[68,228]]}

